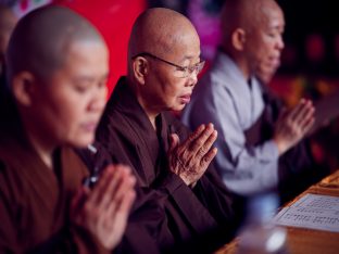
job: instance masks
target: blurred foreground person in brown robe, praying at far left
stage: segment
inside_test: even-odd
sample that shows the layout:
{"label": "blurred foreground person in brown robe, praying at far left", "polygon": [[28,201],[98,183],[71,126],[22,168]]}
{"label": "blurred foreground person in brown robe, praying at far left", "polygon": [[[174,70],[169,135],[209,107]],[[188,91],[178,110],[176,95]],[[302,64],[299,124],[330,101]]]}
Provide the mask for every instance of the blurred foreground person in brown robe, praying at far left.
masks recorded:
{"label": "blurred foreground person in brown robe, praying at far left", "polygon": [[135,198],[125,166],[90,190],[72,147],[86,147],[106,97],[108,49],[83,17],[38,9],[15,27],[0,125],[0,253],[110,253]]}

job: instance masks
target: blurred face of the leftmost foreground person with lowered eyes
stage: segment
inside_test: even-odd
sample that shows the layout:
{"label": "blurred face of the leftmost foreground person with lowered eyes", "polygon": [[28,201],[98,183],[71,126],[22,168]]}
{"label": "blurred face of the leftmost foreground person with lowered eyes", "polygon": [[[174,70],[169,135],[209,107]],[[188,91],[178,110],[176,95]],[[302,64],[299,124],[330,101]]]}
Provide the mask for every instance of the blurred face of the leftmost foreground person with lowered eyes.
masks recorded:
{"label": "blurred face of the leftmost foreground person with lowered eyes", "polygon": [[47,145],[86,147],[106,98],[108,50],[99,41],[73,42],[63,66],[34,93],[35,129]]}

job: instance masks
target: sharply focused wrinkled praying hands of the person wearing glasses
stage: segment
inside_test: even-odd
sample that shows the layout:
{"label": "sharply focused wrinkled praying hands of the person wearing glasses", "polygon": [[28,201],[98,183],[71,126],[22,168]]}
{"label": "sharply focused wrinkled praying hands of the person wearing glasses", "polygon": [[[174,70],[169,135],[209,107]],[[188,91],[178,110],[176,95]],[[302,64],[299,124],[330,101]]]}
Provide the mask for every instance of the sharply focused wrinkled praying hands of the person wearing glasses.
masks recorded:
{"label": "sharply focused wrinkled praying hands of the person wearing glasses", "polygon": [[212,124],[201,125],[180,144],[178,136],[172,135],[170,170],[178,175],[187,186],[194,187],[216,155],[216,148],[212,148],[216,137],[217,132]]}

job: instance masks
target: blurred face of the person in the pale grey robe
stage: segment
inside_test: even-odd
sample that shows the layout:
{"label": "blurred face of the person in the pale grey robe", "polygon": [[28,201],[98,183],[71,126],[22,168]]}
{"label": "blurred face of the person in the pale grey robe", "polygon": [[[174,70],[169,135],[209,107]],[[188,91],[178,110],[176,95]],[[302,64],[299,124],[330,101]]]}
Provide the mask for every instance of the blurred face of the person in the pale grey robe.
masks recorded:
{"label": "blurred face of the person in the pale grey robe", "polygon": [[256,24],[254,22],[252,33],[247,36],[246,51],[250,73],[256,73],[262,79],[269,81],[280,65],[285,20],[282,11],[277,5],[264,7],[262,14]]}

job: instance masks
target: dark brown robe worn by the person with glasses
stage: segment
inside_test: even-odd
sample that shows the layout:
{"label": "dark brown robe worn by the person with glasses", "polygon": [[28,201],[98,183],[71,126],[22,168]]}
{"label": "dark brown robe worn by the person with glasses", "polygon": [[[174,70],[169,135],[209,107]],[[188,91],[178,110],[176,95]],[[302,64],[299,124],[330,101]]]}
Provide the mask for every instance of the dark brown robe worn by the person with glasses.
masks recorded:
{"label": "dark brown robe worn by the person with glasses", "polygon": [[143,190],[156,192],[165,202],[167,228],[159,233],[162,250],[175,246],[178,252],[210,252],[233,234],[228,191],[212,167],[193,189],[171,173],[166,156],[170,135],[177,134],[184,141],[189,131],[171,113],[161,113],[156,125],[158,134],[123,77],[108,102],[97,142],[114,162],[133,168]]}

